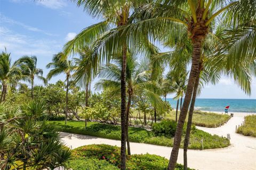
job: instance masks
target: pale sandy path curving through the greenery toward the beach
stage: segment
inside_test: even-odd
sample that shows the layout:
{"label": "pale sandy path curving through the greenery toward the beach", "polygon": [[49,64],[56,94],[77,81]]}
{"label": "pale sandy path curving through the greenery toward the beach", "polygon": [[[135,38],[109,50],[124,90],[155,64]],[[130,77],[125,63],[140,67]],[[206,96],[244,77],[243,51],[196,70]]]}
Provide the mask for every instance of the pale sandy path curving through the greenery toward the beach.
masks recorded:
{"label": "pale sandy path curving through the greenery toward the beach", "polygon": [[[244,137],[235,133],[235,127],[243,122],[241,115],[235,115],[227,124],[219,128],[202,128],[211,134],[227,136],[230,134],[231,146],[223,149],[188,150],[188,166],[200,170],[256,170],[256,138]],[[105,143],[121,146],[117,140],[91,137],[87,135],[61,133],[61,138],[67,146],[76,148],[83,145]],[[169,159],[171,147],[148,145],[145,143],[130,143],[132,154],[156,154]],[[183,150],[180,149],[178,163],[183,163]]]}

